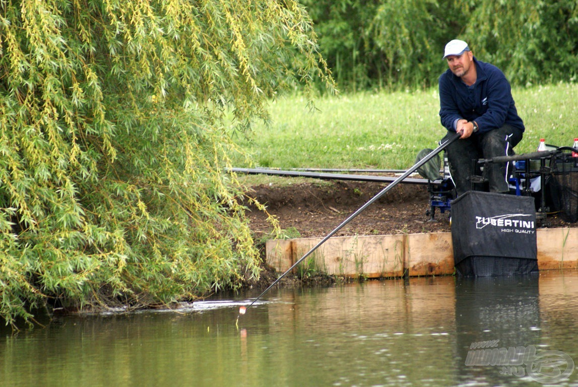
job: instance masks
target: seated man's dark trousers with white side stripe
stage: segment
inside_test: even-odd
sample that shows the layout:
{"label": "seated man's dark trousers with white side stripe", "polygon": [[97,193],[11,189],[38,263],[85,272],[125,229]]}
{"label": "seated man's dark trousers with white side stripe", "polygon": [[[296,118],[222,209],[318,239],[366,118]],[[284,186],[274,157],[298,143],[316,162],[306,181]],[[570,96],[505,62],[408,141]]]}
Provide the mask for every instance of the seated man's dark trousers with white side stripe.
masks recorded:
{"label": "seated man's dark trousers with white side stripe", "polygon": [[[453,136],[448,132],[442,142]],[[504,125],[485,133],[473,133],[467,139],[451,143],[447,148],[447,161],[450,164],[451,180],[458,195],[472,189],[470,177],[478,173],[477,159],[513,155],[513,147],[522,139],[523,131],[514,126]],[[484,176],[488,179],[490,192],[509,192],[507,178],[512,172],[509,163],[486,163]],[[479,189],[474,187],[474,189]]]}

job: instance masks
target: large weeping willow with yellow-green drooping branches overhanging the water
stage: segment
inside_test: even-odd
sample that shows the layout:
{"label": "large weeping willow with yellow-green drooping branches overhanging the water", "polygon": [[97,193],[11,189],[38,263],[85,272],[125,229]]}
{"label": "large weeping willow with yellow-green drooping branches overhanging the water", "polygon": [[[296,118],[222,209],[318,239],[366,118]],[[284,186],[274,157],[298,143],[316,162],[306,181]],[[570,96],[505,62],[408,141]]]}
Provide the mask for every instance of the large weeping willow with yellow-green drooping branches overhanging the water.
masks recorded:
{"label": "large weeping willow with yellow-green drooping branches overhanging the water", "polygon": [[[0,4],[0,314],[139,307],[257,276],[224,173],[279,90],[331,77],[292,0]],[[230,120],[230,119],[229,119]]]}

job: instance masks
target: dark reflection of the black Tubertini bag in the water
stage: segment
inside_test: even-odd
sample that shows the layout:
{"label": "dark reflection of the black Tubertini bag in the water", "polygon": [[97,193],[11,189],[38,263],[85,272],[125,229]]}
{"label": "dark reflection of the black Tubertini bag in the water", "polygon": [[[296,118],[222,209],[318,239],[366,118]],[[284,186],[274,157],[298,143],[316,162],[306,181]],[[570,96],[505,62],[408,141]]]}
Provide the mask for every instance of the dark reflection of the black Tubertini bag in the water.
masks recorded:
{"label": "dark reflection of the black Tubertini bag in the water", "polygon": [[[540,343],[539,276],[458,278],[455,322],[459,379],[494,385],[508,374],[526,376],[517,360]],[[509,348],[517,348],[510,351],[511,362],[499,353]]]}

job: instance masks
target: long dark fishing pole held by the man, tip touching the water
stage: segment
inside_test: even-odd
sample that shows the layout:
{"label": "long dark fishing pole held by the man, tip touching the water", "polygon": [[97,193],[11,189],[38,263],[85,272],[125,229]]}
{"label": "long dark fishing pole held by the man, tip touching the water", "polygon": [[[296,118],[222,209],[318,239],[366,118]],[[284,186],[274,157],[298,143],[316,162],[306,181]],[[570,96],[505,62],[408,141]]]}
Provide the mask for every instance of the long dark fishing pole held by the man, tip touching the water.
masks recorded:
{"label": "long dark fishing pole held by the man, tip touching the water", "polygon": [[377,193],[377,195],[373,196],[372,199],[369,200],[369,202],[365,203],[363,206],[361,206],[357,211],[355,211],[353,214],[351,214],[349,216],[349,218],[345,219],[342,224],[340,224],[339,226],[337,226],[332,232],[330,232],[327,236],[325,236],[319,243],[317,243],[316,245],[314,245],[314,247],[307,251],[305,255],[303,255],[301,258],[299,258],[299,260],[297,262],[295,262],[293,265],[291,265],[291,267],[289,269],[287,269],[285,271],[285,273],[281,274],[279,276],[279,278],[277,278],[271,285],[268,286],[268,288],[266,288],[259,296],[257,296],[257,298],[255,298],[253,300],[253,302],[251,302],[249,304],[249,306],[245,307],[242,306],[239,308],[239,316],[237,317],[237,321],[239,321],[239,317],[242,314],[245,314],[245,312],[247,311],[247,309],[249,309],[251,306],[253,306],[253,304],[255,302],[257,302],[258,299],[260,299],[266,292],[269,291],[269,289],[271,289],[273,286],[275,286],[277,284],[277,282],[279,282],[281,280],[281,278],[285,277],[287,275],[287,273],[289,273],[291,270],[293,270],[295,268],[295,266],[299,265],[299,263],[303,262],[303,259],[307,258],[307,256],[311,255],[313,253],[313,251],[317,250],[318,247],[320,247],[320,245],[324,244],[325,241],[327,241],[329,238],[331,238],[336,232],[338,232],[340,229],[343,228],[343,226],[345,226],[346,224],[348,224],[351,219],[357,217],[357,215],[361,214],[367,207],[370,206],[370,204],[372,204],[373,202],[375,202],[377,199],[381,198],[381,196],[384,195],[384,193],[386,193],[387,191],[389,191],[391,188],[395,187],[395,185],[397,185],[400,181],[402,181],[404,178],[406,178],[407,176],[409,176],[410,174],[412,174],[416,169],[420,168],[420,166],[424,165],[425,163],[427,163],[429,160],[431,160],[433,157],[435,157],[439,152],[441,152],[442,150],[444,150],[447,146],[449,146],[449,144],[453,143],[455,140],[459,139],[461,136],[461,132],[455,133],[454,136],[451,136],[449,139],[447,139],[444,143],[440,144],[440,146],[438,146],[437,148],[435,148],[431,153],[429,153],[427,156],[425,156],[423,159],[421,159],[420,161],[418,161],[414,166],[412,166],[412,168],[406,170],[405,173],[403,173],[401,176],[399,176],[397,179],[395,179],[394,181],[392,181],[391,184],[387,185],[386,188],[382,189],[379,193]]}

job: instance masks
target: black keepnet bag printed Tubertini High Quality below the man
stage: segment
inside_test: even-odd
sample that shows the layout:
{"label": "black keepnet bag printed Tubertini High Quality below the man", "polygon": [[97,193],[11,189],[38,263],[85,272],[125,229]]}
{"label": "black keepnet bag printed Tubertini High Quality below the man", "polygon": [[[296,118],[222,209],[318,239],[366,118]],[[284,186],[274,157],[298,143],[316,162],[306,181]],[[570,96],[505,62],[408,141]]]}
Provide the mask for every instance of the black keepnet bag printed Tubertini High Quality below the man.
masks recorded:
{"label": "black keepnet bag printed Tubertini High Quality below the man", "polygon": [[465,277],[538,272],[534,199],[468,191],[451,202],[454,265]]}

